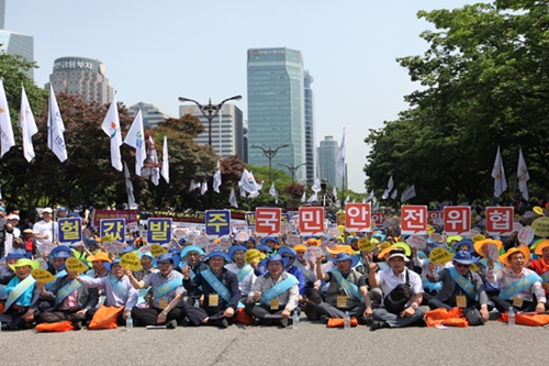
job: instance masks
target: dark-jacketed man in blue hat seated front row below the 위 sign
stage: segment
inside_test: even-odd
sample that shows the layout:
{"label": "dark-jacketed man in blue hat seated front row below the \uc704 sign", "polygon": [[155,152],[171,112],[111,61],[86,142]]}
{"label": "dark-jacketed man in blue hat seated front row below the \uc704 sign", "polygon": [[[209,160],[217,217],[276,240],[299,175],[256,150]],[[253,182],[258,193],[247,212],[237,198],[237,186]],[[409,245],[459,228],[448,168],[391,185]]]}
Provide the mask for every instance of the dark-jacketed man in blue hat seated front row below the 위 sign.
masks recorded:
{"label": "dark-jacketed man in blue hat seated front row below the \uc704 sign", "polygon": [[430,282],[441,281],[442,284],[438,295],[429,300],[429,308],[447,310],[462,308],[471,325],[486,322],[493,303],[488,299],[482,278],[471,271],[471,265],[479,259],[469,252],[458,251],[453,256],[453,267],[445,268],[439,273],[435,273],[435,266],[429,263],[427,279]]}

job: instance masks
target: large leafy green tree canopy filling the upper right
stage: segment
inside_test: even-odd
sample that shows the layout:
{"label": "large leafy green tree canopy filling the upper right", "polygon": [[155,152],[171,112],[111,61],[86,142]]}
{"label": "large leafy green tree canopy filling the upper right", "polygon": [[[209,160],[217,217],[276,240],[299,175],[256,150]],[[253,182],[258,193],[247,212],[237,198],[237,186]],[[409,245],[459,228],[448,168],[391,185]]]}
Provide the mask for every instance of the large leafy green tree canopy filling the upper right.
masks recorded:
{"label": "large leafy green tree canopy filling the upper right", "polygon": [[419,11],[435,27],[421,36],[423,56],[399,58],[422,88],[411,109],[370,131],[367,186],[378,197],[392,175],[412,201],[493,197],[492,167],[501,146],[508,192],[518,189],[522,148],[530,196],[547,195],[549,146],[549,7],[502,0],[455,10]]}

